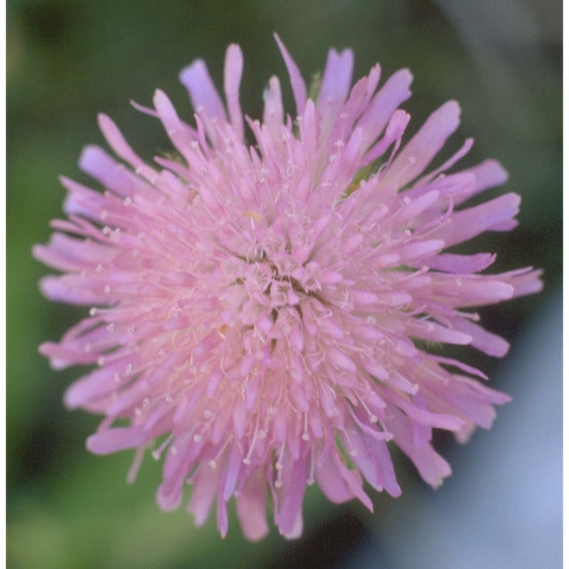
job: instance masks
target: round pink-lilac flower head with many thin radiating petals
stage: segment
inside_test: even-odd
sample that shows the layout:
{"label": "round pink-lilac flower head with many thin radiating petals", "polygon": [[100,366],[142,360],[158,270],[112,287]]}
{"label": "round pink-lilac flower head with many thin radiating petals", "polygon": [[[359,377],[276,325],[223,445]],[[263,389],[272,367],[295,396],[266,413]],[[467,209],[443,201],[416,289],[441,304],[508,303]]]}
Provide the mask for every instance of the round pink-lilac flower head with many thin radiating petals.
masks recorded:
{"label": "round pink-lilac flower head with many thin radiating petals", "polygon": [[364,479],[398,496],[389,441],[438,486],[450,466],[432,430],[465,441],[509,398],[429,346],[504,356],[508,344],[473,307],[541,288],[536,270],[481,274],[491,253],[445,252],[514,228],[520,201],[506,193],[467,205],[506,180],[494,160],[446,173],[472,139],[425,173],[458,127],[457,102],[400,149],[408,70],[378,88],[376,65],[350,88],[351,50],[330,50],[311,98],[277,43],[294,117],[276,77],[262,121],[243,116],[238,46],[225,58],[225,104],[197,60],[180,75],[194,126],[164,92],[154,109],[136,105],[161,121],[178,156],[145,164],[100,115],[122,162],[85,148],[80,167],[105,191],[64,178],[68,220],[53,221],[50,243],[34,250],[63,272],[41,281],[46,297],[90,307],[40,348],[54,368],[91,366],[65,394],[69,408],[105,415],[87,448],[136,449],[131,480],[145,452],[164,454],[162,509],[181,504],[188,482],[196,523],[216,502],[225,536],[235,496],[251,540],[268,531],[267,501],[280,533],[299,536],[314,482],[333,502],[369,509]]}

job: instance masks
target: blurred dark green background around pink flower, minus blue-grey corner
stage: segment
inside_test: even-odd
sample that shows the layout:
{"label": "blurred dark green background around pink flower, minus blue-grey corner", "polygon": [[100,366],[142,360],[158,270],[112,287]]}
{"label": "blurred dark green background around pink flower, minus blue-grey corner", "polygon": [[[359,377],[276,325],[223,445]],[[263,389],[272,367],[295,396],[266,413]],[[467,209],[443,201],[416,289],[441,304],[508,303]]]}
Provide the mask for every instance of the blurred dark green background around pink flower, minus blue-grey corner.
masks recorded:
{"label": "blurred dark green background around pink flower, minus blue-grey corner", "polygon": [[[76,162],[85,144],[104,144],[97,112],[106,112],[147,158],[168,149],[158,121],[139,115],[166,91],[181,117],[192,111],[177,75],[194,58],[207,61],[221,85],[225,46],[245,55],[242,106],[260,117],[270,75],[292,95],[272,38],[277,31],[304,77],[321,70],[326,50],[351,47],[355,78],[379,61],[383,80],[401,67],[415,75],[410,132],[450,98],[462,126],[445,156],[476,140],[462,164],[486,156],[510,172],[504,191],[523,197],[513,233],[479,238],[476,250],[498,252],[496,270],[534,265],[546,272],[539,297],[484,311],[484,323],[515,344],[531,313],[561,282],[561,2],[391,0],[11,0],[7,6],[7,538],[11,568],[284,568],[343,567],[368,538],[374,516],[356,504],[331,506],[312,487],[302,540],[272,531],[260,544],[243,540],[235,519],[221,541],[211,520],[196,529],[184,508],[154,504],[160,465],[147,460],[134,486],[124,452],[94,457],[84,447],[98,418],[63,408],[78,370],[53,373],[37,353],[83,311],[50,304],[37,281],[46,269],[31,258],[48,221],[61,216],[58,175],[88,181]],[[437,159],[439,163],[440,159]],[[464,352],[463,352],[464,353]],[[462,356],[461,356],[462,357]],[[467,353],[489,374],[494,362]],[[499,376],[491,377],[500,386]],[[486,435],[491,437],[491,433]],[[441,448],[454,443],[441,437]],[[398,465],[405,488],[418,484]],[[376,516],[399,507],[376,496]],[[408,502],[400,507],[413,507]]]}

